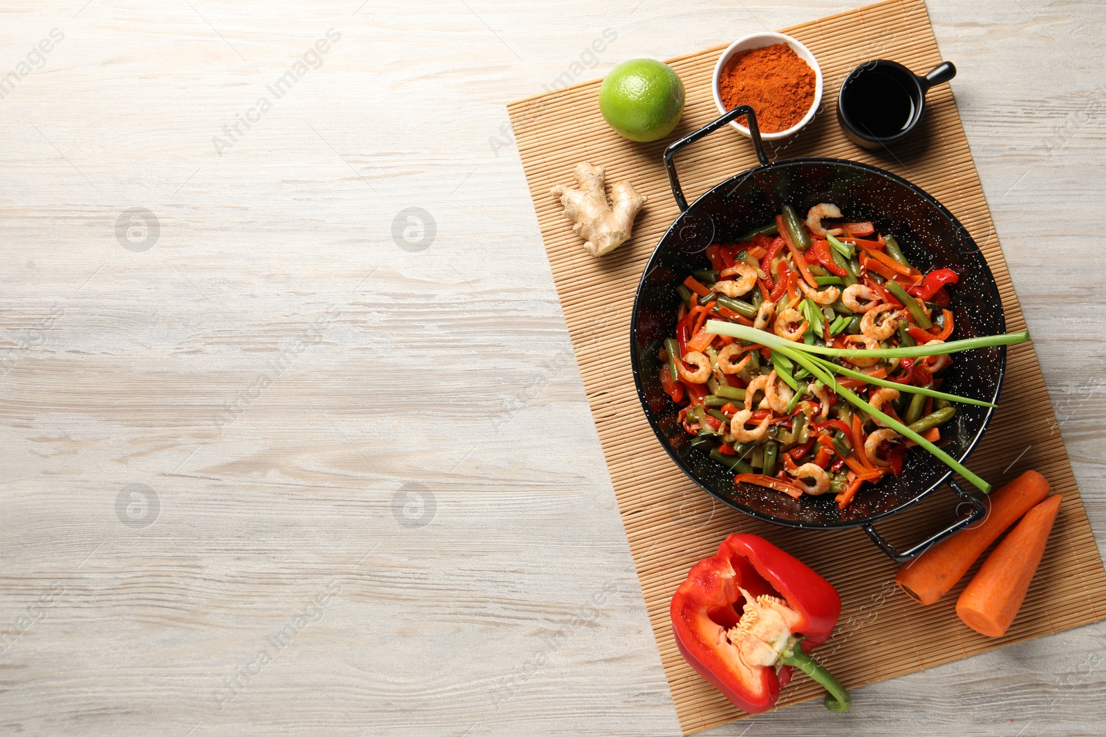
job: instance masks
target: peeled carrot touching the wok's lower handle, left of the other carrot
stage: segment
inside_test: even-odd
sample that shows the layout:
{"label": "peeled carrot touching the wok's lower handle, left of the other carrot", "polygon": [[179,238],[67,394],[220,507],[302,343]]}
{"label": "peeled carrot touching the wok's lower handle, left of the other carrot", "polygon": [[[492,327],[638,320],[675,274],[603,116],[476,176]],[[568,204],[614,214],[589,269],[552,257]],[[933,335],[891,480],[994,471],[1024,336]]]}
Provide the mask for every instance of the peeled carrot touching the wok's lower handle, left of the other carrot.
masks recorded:
{"label": "peeled carrot touching the wok's lower handle, left of the other carrot", "polygon": [[1045,477],[1036,471],[1026,471],[984,501],[987,517],[982,523],[938,543],[904,565],[895,582],[922,604],[933,603],[956,586],[1003,530],[1047,495]]}

